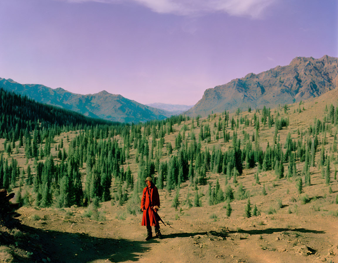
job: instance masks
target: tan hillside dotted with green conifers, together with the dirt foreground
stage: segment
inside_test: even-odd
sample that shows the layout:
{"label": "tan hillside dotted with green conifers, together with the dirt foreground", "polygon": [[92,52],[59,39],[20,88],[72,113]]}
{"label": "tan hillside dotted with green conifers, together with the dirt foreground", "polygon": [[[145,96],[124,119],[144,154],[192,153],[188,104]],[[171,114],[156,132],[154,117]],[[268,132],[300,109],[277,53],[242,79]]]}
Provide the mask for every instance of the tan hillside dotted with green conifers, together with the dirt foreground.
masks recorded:
{"label": "tan hillside dotted with green conifers, together with the dirt foreground", "polygon": [[[338,210],[337,95],[130,126],[39,128],[41,117],[15,132],[1,124],[0,187],[16,193],[20,219],[39,230],[42,256],[57,262],[173,262],[187,254],[199,262],[333,260],[338,232],[327,231]],[[50,129],[59,132],[46,135]],[[139,226],[147,176],[160,189],[160,215],[174,226],[161,243],[172,254],[143,249],[158,244],[145,243]],[[31,229],[18,231],[31,238]],[[13,230],[2,232],[15,239]],[[0,241],[12,253],[8,262],[39,259],[21,241]],[[61,241],[69,248],[55,246]]]}

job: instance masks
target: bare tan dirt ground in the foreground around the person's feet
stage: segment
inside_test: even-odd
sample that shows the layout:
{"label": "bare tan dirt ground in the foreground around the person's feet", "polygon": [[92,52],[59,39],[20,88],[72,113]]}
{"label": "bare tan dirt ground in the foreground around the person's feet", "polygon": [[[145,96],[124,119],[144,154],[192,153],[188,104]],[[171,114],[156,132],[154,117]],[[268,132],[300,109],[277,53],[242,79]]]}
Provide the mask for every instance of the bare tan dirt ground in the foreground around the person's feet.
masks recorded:
{"label": "bare tan dirt ground in the foreground around the person's feet", "polygon": [[[220,208],[191,208],[172,220],[175,211],[167,207],[165,213],[164,206],[163,219],[173,228],[161,225],[164,239],[149,241],[144,239],[141,216],[118,220],[108,202],[101,209],[111,219],[103,222],[81,217],[83,208],[20,212],[22,222],[36,228],[51,262],[337,262],[336,217],[313,216],[305,209],[298,215],[262,214],[214,222],[209,215],[215,207]],[[48,219],[34,221],[32,215]]]}

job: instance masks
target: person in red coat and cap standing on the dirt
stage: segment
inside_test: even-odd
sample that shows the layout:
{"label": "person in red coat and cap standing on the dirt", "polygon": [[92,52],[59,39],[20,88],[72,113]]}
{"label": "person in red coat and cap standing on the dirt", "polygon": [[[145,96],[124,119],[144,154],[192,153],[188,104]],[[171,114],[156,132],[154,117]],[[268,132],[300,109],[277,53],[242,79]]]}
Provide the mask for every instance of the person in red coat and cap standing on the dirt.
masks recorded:
{"label": "person in red coat and cap standing on the dirt", "polygon": [[160,196],[157,187],[153,184],[151,177],[147,177],[146,187],[143,189],[141,199],[141,211],[143,211],[142,225],[147,226],[146,240],[152,238],[151,226],[155,226],[156,237],[162,239],[160,232],[159,220],[156,218],[156,213],[160,208]]}

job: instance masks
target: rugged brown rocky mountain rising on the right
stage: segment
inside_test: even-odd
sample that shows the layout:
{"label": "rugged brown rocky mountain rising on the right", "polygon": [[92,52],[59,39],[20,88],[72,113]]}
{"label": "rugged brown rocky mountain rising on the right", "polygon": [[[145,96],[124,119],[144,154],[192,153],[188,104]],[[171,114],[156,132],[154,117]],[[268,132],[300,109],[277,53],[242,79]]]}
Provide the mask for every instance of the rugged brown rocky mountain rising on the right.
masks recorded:
{"label": "rugged brown rocky mountain rising on the right", "polygon": [[186,112],[188,115],[208,115],[224,110],[272,107],[318,97],[338,86],[338,58],[323,56],[296,57],[287,66],[277,66],[259,74],[207,89],[203,97]]}

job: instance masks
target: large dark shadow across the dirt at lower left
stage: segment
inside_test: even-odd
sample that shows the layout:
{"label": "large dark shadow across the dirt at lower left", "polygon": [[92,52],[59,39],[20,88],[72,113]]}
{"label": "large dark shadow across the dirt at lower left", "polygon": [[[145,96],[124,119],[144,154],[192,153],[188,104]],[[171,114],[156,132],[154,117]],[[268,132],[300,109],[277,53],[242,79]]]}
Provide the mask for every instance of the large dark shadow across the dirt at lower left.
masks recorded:
{"label": "large dark shadow across the dirt at lower left", "polygon": [[133,241],[99,238],[85,233],[43,230],[27,225],[22,225],[21,229],[31,241],[19,242],[18,247],[26,250],[28,255],[32,254],[29,260],[27,257],[17,256],[18,262],[42,262],[47,257],[56,263],[84,263],[98,259],[110,262],[138,261],[151,243],[159,243],[156,239]]}

